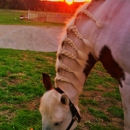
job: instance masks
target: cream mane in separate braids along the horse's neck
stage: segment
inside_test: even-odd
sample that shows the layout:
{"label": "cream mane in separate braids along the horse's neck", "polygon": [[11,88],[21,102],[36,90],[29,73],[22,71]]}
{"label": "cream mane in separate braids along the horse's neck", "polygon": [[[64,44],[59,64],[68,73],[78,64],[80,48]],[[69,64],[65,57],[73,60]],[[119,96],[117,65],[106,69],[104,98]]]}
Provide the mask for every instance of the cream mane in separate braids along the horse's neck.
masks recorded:
{"label": "cream mane in separate braids along the horse's neck", "polygon": [[[63,82],[72,84],[78,91],[80,91],[79,87],[77,87],[77,86],[81,86],[81,83],[79,81],[81,72],[79,72],[78,70],[74,71],[71,68],[69,68],[67,65],[65,65],[62,62],[62,60],[59,57],[61,55],[64,55],[72,60],[75,60],[79,64],[79,66],[82,68],[82,71],[85,69],[85,66],[87,64],[86,60],[88,59],[88,54],[84,53],[82,50],[80,50],[80,48],[78,48],[76,46],[76,44],[73,42],[73,40],[67,36],[67,32],[71,31],[78,39],[81,40],[81,42],[83,42],[83,44],[85,44],[86,48],[89,50],[88,53],[92,52],[92,44],[87,39],[84,39],[84,37],[80,34],[77,27],[74,25],[75,19],[78,16],[78,14],[83,13],[83,14],[87,15],[88,17],[90,17],[97,24],[97,26],[100,26],[100,22],[97,21],[97,19],[89,11],[87,11],[88,5],[89,4],[86,3],[82,7],[80,7],[76,11],[74,16],[66,24],[64,33],[62,34],[62,39],[60,41],[61,44],[59,45],[59,49],[57,52],[57,62],[56,62],[56,72],[57,73],[56,73],[56,78],[55,78],[55,86],[58,86],[57,81],[63,81]],[[63,47],[64,43],[68,44],[71,48],[73,48],[76,51],[78,56],[76,57],[74,54],[72,54],[71,52],[66,50]],[[69,73],[73,73],[75,75],[75,77],[77,77],[78,83],[74,83],[74,82],[70,81],[68,78],[65,78],[65,77],[59,75],[59,72],[58,72],[59,69],[63,69]]]}

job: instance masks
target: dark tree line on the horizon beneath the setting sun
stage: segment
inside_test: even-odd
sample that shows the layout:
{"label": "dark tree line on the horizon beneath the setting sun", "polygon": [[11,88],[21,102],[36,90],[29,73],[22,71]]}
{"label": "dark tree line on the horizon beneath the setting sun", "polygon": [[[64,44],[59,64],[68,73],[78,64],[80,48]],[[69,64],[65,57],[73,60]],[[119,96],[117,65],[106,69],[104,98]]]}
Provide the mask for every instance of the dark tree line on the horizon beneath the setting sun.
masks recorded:
{"label": "dark tree line on the horizon beneath the setting sun", "polygon": [[67,5],[66,2],[43,2],[40,0],[0,0],[0,9],[73,13],[81,4],[83,3],[75,2],[72,5]]}

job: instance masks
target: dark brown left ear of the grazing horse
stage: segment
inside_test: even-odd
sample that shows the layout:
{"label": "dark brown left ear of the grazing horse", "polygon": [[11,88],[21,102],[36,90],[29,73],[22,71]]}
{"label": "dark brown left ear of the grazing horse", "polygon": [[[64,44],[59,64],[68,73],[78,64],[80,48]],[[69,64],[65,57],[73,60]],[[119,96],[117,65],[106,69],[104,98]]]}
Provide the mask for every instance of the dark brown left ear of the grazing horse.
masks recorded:
{"label": "dark brown left ear of the grazing horse", "polygon": [[48,74],[42,73],[42,82],[47,91],[52,89],[51,79]]}

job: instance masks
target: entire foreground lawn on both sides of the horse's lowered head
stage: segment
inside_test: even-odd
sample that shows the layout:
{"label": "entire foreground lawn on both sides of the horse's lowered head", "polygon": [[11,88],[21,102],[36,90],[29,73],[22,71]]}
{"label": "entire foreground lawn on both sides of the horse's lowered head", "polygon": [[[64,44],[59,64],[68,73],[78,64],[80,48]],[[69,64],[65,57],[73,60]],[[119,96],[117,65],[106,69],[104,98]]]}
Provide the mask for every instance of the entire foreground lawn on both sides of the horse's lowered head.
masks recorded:
{"label": "entire foreground lawn on both sides of the horse's lowered head", "polygon": [[[41,130],[42,72],[55,77],[56,53],[0,49],[0,130]],[[118,83],[98,63],[79,97],[76,130],[122,130]]]}

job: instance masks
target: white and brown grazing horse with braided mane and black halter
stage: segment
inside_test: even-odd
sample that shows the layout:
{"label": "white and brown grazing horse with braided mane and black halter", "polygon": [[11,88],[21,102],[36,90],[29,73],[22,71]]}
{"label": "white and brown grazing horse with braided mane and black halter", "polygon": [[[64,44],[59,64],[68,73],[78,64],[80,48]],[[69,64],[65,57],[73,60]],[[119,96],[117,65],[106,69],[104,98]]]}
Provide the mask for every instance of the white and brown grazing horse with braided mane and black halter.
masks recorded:
{"label": "white and brown grazing horse with braided mane and black halter", "polygon": [[[55,87],[43,74],[42,130],[73,130],[80,122],[78,97],[100,61],[119,82],[124,129],[130,130],[130,0],[92,0],[66,25],[57,51]],[[87,118],[87,117],[86,117]]]}

